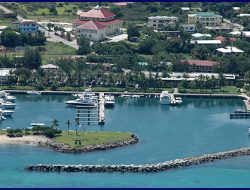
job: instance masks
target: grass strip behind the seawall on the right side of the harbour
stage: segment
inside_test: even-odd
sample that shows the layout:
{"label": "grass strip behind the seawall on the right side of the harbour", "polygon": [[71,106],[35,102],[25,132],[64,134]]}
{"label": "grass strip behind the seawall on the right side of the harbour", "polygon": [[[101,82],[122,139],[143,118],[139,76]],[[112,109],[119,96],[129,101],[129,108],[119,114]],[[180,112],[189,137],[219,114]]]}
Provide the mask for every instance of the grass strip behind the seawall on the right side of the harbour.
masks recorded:
{"label": "grass strip behind the seawall on the right side of the harbour", "polygon": [[[181,91],[180,91],[181,92]],[[211,93],[211,94],[239,94],[239,88],[236,88],[235,86],[224,86],[221,88],[217,89],[185,89],[185,92],[183,93],[192,93],[192,94],[206,94],[206,93]]]}

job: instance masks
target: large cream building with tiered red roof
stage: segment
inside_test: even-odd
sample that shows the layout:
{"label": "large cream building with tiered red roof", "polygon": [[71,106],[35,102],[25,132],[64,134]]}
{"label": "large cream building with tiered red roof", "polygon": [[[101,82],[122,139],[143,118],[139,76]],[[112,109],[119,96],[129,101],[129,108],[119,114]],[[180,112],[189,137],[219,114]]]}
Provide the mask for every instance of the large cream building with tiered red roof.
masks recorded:
{"label": "large cream building with tiered red roof", "polygon": [[73,22],[76,38],[86,37],[91,41],[102,41],[107,36],[119,34],[122,21],[115,14],[98,5],[87,12],[81,12],[79,19]]}

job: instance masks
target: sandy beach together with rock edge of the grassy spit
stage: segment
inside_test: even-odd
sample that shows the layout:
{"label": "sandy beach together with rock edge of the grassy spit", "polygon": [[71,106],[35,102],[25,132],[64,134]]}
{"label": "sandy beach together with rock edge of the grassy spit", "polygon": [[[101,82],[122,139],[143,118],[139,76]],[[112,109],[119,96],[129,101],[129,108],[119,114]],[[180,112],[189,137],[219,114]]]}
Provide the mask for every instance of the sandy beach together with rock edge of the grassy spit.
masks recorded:
{"label": "sandy beach together with rock edge of the grassy spit", "polygon": [[81,153],[81,152],[107,150],[130,144],[136,144],[138,142],[139,142],[138,137],[133,134],[133,137],[129,140],[117,141],[113,143],[93,144],[84,147],[70,147],[67,144],[55,142],[53,139],[49,139],[44,136],[24,135],[22,137],[8,137],[7,135],[0,135],[0,145],[10,145],[10,144],[34,145],[38,147],[39,146],[45,147],[62,153]]}

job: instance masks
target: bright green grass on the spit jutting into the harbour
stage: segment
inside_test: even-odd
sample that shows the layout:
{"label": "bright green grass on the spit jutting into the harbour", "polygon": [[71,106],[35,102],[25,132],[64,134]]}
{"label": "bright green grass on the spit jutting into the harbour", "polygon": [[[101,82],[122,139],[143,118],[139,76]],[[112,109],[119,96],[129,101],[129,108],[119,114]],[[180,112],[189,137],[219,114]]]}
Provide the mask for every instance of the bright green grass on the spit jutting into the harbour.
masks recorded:
{"label": "bright green grass on the spit jutting into the harbour", "polygon": [[71,147],[79,147],[79,145],[75,145],[75,140],[81,140],[80,146],[86,146],[130,140],[131,138],[131,133],[127,132],[78,132],[76,135],[74,131],[70,131],[69,134],[67,131],[63,131],[62,135],[55,138],[55,141]]}

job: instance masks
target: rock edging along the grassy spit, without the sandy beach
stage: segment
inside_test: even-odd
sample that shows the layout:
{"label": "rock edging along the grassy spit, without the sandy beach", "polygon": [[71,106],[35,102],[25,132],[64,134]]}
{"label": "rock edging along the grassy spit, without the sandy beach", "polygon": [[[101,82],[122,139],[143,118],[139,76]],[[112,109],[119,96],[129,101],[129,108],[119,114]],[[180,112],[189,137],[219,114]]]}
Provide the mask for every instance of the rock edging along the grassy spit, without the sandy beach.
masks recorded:
{"label": "rock edging along the grassy spit, without the sandy beach", "polygon": [[112,143],[103,143],[103,144],[94,144],[94,145],[86,145],[82,147],[71,147],[64,143],[58,143],[53,140],[47,140],[47,141],[39,141],[38,145],[42,147],[47,147],[50,149],[53,149],[58,152],[64,152],[64,153],[80,153],[80,152],[91,152],[91,151],[97,151],[97,150],[106,150],[121,146],[126,146],[129,144],[135,144],[138,143],[139,139],[135,134],[131,135],[131,139],[124,140],[124,141],[117,141]]}

